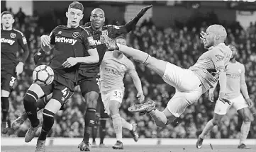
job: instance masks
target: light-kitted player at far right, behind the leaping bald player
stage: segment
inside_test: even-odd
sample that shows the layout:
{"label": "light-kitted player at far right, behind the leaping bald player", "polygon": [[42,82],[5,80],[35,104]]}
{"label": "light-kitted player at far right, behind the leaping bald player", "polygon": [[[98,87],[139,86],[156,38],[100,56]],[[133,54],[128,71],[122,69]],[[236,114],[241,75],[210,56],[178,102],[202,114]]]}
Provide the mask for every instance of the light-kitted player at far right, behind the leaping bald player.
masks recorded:
{"label": "light-kitted player at far right, behind the leaping bald player", "polygon": [[[204,37],[204,35],[203,35]],[[204,131],[199,135],[199,139],[196,142],[196,148],[201,148],[203,141],[211,129],[215,125],[218,125],[221,122],[221,118],[226,115],[229,108],[233,105],[235,109],[238,111],[238,114],[243,117],[243,124],[241,127],[240,134],[240,144],[238,148],[247,148],[245,146],[245,139],[250,130],[250,123],[253,121],[252,114],[250,113],[249,107],[252,107],[252,100],[248,95],[247,86],[245,83],[245,66],[240,64],[235,60],[235,56],[237,54],[237,50],[235,46],[230,45],[230,49],[232,49],[232,57],[230,62],[226,66],[227,73],[227,90],[226,95],[230,100],[231,104],[222,103],[220,100],[216,101],[213,119],[208,121],[206,127],[204,127]],[[213,102],[213,91],[216,88],[216,85],[209,90],[209,100]],[[242,94],[241,94],[242,92]]]}

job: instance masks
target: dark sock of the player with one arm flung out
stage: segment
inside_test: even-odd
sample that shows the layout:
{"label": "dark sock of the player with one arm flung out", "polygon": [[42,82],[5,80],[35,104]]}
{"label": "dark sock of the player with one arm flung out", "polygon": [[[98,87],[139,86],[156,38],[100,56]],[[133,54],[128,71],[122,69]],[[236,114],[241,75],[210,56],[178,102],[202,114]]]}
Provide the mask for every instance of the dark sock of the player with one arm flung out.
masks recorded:
{"label": "dark sock of the player with one arm flung out", "polygon": [[95,112],[94,108],[88,107],[84,115],[84,142],[89,142],[91,130],[95,124]]}

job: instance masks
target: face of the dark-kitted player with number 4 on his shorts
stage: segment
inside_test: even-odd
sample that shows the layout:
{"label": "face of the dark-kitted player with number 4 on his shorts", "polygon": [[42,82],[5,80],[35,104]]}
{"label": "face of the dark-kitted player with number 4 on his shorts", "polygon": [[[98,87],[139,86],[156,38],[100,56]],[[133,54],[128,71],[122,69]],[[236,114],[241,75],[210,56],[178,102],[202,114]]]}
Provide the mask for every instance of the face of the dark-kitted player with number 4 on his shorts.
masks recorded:
{"label": "face of the dark-kitted player with number 4 on his shorts", "polygon": [[76,8],[69,8],[66,12],[67,16],[67,25],[69,28],[75,28],[79,26],[80,21],[84,17],[83,12]]}

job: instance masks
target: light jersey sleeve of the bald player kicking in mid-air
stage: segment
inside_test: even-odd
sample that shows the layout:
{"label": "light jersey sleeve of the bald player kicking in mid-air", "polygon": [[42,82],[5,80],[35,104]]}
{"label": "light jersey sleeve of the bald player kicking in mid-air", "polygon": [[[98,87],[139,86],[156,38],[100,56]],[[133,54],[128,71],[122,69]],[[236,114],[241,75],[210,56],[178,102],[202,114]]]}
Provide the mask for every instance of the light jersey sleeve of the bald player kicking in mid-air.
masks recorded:
{"label": "light jersey sleeve of the bald player kicking in mid-air", "polygon": [[223,52],[221,52],[220,49],[211,50],[210,58],[212,59],[214,67],[218,73],[220,71],[226,71],[225,55],[223,54]]}

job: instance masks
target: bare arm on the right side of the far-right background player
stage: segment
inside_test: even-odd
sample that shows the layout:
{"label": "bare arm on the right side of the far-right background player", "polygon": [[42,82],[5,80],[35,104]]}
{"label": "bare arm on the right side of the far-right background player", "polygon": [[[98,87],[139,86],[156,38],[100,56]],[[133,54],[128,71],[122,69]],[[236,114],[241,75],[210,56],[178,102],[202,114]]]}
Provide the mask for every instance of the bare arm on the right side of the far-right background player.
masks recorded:
{"label": "bare arm on the right side of the far-right background player", "polygon": [[252,100],[250,100],[249,93],[247,90],[247,85],[245,82],[245,66],[243,66],[243,70],[242,70],[242,74],[241,74],[240,78],[241,78],[240,79],[241,92],[242,92],[243,96],[245,97],[246,103],[249,105],[249,107],[252,107],[253,103],[252,103]]}

